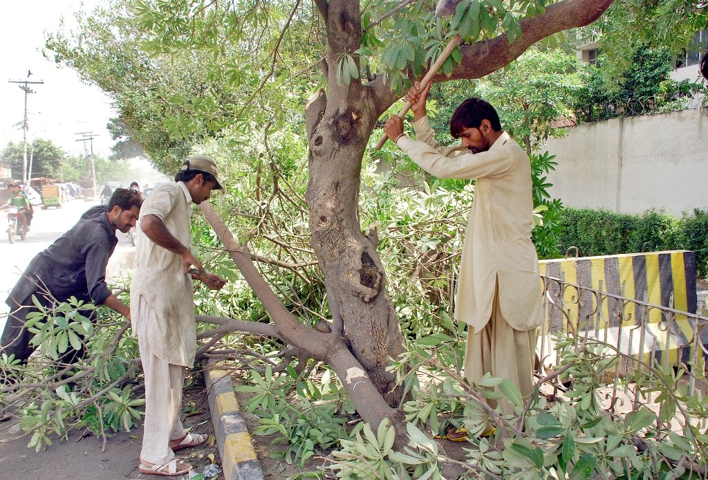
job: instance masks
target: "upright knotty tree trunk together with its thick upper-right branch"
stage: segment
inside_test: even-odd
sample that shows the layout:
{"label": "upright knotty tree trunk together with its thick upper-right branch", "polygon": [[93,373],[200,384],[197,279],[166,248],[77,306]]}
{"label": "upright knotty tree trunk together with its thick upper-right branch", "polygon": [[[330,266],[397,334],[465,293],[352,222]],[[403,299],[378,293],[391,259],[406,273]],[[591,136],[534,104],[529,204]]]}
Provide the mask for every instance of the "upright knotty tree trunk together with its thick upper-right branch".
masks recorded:
{"label": "upright knotty tree trunk together with its thick upper-right branch", "polygon": [[[509,44],[506,35],[462,47],[463,61],[449,78],[479,78],[500,69],[530,45],[559,30],[586,25],[612,0],[565,0],[536,18],[522,21],[523,35]],[[379,116],[398,96],[382,77],[362,86],[360,79],[337,84],[343,55],[354,54],[361,42],[359,2],[331,0],[320,8],[326,23],[327,92],[319,92],[306,108],[309,139],[309,181],[305,200],[310,212],[312,248],[325,275],[328,299],[336,321],[343,324],[352,353],[365,367],[389,405],[401,401],[394,375],[385,371],[389,358],[403,351],[398,319],[384,291],[386,274],[376,243],[361,232],[358,193],[362,156]]]}

